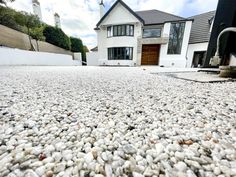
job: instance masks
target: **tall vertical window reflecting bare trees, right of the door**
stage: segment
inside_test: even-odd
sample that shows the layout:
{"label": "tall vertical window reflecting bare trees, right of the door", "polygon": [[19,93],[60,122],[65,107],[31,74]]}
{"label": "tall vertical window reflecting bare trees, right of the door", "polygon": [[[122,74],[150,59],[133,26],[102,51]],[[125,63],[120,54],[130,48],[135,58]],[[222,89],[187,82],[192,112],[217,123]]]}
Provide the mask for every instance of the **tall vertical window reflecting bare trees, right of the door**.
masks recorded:
{"label": "tall vertical window reflecting bare trees, right of the door", "polygon": [[185,23],[172,23],[170,27],[170,39],[168,54],[181,54],[184,38]]}

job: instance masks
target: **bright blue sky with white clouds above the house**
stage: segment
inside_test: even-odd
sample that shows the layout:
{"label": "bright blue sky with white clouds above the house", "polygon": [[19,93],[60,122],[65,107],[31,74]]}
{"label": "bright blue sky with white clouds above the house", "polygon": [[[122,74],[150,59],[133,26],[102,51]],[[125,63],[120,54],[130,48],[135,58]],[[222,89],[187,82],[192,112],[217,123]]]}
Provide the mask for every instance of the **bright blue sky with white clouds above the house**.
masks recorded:
{"label": "bright blue sky with white clouds above the house", "polygon": [[[15,0],[8,5],[19,11],[33,13],[32,0]],[[215,10],[218,0],[123,0],[134,11],[157,9],[182,17]],[[62,30],[79,37],[89,49],[97,45],[94,28],[100,19],[99,0],[39,0],[43,21],[54,25],[53,14],[61,17]],[[106,11],[115,0],[104,0]]]}

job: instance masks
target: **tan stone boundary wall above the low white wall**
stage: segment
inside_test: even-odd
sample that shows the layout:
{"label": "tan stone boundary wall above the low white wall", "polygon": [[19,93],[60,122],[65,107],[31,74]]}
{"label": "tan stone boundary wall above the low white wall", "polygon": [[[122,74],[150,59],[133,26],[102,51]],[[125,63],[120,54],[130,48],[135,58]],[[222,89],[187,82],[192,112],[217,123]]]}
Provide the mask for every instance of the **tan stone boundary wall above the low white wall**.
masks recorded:
{"label": "tan stone boundary wall above the low white wall", "polygon": [[[32,44],[35,46],[35,48],[37,48],[35,40],[32,40]],[[40,52],[73,55],[72,52],[47,42],[39,41],[38,44]],[[27,34],[21,33],[3,25],[0,25],[0,45],[23,50],[30,49],[29,37]]]}

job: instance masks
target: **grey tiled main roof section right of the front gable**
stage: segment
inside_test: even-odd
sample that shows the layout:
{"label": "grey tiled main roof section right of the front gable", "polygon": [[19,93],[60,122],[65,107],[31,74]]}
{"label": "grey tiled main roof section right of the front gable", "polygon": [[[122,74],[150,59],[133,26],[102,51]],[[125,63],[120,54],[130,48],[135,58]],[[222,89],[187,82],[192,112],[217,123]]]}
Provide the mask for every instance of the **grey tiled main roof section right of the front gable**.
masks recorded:
{"label": "grey tiled main roof section right of the front gable", "polygon": [[165,22],[171,21],[190,20],[159,10],[137,11],[135,13],[144,20],[145,25],[163,24]]}

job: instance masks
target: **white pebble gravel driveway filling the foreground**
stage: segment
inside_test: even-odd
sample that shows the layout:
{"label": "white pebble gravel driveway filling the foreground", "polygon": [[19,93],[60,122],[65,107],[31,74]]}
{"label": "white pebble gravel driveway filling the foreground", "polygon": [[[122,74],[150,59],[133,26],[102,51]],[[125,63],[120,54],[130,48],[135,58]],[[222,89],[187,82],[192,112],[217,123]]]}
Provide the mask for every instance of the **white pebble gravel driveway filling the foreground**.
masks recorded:
{"label": "white pebble gravel driveway filling the foreground", "polygon": [[236,176],[236,83],[0,67],[0,176]]}

